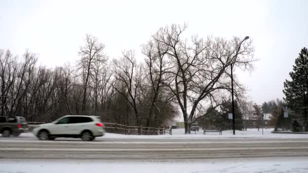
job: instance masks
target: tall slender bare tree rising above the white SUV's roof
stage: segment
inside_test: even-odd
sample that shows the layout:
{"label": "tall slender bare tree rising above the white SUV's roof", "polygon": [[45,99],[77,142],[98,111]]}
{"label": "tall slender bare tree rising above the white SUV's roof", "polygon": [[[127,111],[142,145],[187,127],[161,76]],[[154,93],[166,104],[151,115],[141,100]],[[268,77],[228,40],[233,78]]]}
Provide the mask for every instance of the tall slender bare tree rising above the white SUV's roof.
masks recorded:
{"label": "tall slender bare tree rising above the white SUV's roof", "polygon": [[85,43],[80,47],[79,55],[79,69],[82,73],[83,80],[83,101],[82,113],[86,112],[87,90],[89,88],[90,76],[93,74],[94,64],[104,63],[107,60],[106,55],[103,53],[105,45],[99,42],[95,36],[86,34]]}

